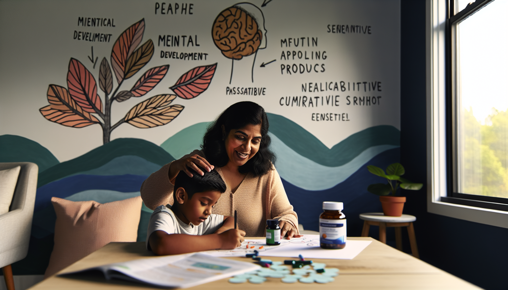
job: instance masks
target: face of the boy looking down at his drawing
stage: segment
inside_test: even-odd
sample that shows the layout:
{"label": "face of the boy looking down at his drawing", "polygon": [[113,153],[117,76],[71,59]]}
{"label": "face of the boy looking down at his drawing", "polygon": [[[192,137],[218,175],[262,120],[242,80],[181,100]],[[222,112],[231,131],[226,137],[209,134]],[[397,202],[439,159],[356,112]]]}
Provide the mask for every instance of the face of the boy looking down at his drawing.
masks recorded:
{"label": "face of the boy looking down at his drawing", "polygon": [[212,213],[212,206],[217,203],[219,198],[220,191],[196,192],[190,200],[186,199],[181,205],[181,213],[184,218],[179,218],[185,223],[191,222],[194,225],[199,225]]}

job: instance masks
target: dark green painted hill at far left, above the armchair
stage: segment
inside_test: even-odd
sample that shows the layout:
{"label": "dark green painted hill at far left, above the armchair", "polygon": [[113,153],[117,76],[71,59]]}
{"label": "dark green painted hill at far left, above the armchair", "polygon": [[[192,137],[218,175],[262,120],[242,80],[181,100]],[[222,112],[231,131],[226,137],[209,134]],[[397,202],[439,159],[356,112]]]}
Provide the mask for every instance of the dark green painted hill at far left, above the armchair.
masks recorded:
{"label": "dark green painted hill at far left, above the armchair", "polygon": [[60,162],[41,144],[16,135],[0,136],[0,162],[33,162],[39,172]]}

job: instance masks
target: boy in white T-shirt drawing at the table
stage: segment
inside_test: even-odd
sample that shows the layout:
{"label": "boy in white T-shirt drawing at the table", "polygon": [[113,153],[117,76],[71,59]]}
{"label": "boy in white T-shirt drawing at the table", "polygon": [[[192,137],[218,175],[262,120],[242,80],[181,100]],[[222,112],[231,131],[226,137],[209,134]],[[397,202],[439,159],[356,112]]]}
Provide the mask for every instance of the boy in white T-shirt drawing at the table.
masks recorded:
{"label": "boy in white T-shirt drawing at the table", "polygon": [[157,255],[234,249],[245,236],[234,228],[231,216],[212,214],[212,207],[226,184],[212,170],[193,177],[181,171],[175,179],[174,203],[171,208],[157,207],[148,223],[146,247]]}

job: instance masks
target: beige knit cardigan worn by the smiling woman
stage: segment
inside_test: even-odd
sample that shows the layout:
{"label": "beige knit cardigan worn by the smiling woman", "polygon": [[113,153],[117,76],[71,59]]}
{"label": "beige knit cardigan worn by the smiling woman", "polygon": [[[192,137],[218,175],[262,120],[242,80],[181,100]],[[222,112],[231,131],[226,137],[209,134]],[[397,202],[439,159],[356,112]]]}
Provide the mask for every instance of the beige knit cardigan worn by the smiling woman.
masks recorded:
{"label": "beige knit cardigan worn by the smiling woman", "polygon": [[[186,156],[194,154],[204,157],[203,152],[199,150]],[[152,210],[160,205],[173,204],[174,185],[168,177],[170,165],[171,163],[166,164],[152,173],[141,185],[141,198]],[[216,170],[225,180],[220,168]],[[264,237],[266,220],[271,218],[289,222],[298,232],[298,216],[289,203],[275,168],[260,177],[253,177],[248,173],[234,194],[228,184],[226,186],[226,192],[220,196],[212,212],[233,216],[236,210],[238,227],[245,231],[247,237]]]}

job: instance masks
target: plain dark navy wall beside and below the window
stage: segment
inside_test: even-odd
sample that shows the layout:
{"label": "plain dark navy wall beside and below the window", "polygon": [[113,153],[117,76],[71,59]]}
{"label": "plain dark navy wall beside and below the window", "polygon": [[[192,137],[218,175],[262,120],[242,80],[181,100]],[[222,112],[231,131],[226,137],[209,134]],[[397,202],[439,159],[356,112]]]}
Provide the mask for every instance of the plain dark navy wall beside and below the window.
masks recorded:
{"label": "plain dark navy wall beside and below the window", "polygon": [[[425,17],[425,0],[402,0],[400,158],[415,182],[427,180]],[[425,187],[406,197],[423,261],[485,289],[508,289],[508,229],[427,213]]]}

